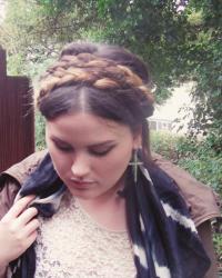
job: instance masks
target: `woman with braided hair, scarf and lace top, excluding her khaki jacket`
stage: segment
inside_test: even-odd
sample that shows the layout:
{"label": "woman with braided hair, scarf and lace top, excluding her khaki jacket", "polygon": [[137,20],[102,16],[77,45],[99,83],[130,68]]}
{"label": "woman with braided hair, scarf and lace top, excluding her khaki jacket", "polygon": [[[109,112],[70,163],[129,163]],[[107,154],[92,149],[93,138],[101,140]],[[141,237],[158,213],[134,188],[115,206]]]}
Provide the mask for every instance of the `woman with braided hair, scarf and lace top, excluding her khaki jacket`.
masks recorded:
{"label": "woman with braided hair, scarf and lace top, excluding her khaki jacket", "polygon": [[148,85],[139,58],[104,44],[71,43],[48,69],[49,155],[1,219],[2,277],[204,276],[185,202],[151,162]]}

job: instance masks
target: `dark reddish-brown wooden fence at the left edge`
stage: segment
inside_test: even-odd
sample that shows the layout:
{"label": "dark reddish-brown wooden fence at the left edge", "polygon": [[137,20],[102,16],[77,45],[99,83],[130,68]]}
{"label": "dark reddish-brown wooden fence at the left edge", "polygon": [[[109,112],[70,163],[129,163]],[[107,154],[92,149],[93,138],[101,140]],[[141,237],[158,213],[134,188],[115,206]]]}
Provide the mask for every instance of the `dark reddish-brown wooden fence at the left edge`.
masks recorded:
{"label": "dark reddish-brown wooden fence at the left edge", "polygon": [[0,171],[34,151],[32,97],[27,77],[7,76],[0,48]]}

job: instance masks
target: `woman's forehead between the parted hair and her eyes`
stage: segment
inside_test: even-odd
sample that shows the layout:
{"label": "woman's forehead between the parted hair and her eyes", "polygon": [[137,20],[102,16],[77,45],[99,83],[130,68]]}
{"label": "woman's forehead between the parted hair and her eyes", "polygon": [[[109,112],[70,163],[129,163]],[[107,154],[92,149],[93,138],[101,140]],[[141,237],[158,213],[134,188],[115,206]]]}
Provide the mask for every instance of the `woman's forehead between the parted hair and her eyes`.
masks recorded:
{"label": "woman's forehead between the parted hair and her eyes", "polygon": [[132,136],[125,125],[84,112],[62,115],[47,121],[47,133],[65,141],[92,143]]}

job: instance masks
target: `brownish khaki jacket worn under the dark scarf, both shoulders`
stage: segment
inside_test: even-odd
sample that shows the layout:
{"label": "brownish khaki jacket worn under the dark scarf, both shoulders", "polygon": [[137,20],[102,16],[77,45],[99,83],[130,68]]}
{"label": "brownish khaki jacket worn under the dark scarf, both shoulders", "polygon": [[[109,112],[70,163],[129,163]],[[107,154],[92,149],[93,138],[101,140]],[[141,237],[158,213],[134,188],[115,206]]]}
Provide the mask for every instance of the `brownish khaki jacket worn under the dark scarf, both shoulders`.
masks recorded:
{"label": "brownish khaki jacket worn under the dark scarf, both shoulders", "polygon": [[[21,162],[13,165],[0,176],[0,219],[10,209],[14,197],[21,185],[29,175],[40,163],[47,150],[36,152]],[[184,198],[191,211],[191,217],[198,228],[203,246],[213,261],[209,276],[205,278],[216,277],[214,262],[214,252],[211,239],[210,220],[220,217],[219,198],[213,190],[203,183],[196,181],[186,171],[172,165],[157,153],[152,153],[154,162],[163,169],[179,186],[179,191]]]}

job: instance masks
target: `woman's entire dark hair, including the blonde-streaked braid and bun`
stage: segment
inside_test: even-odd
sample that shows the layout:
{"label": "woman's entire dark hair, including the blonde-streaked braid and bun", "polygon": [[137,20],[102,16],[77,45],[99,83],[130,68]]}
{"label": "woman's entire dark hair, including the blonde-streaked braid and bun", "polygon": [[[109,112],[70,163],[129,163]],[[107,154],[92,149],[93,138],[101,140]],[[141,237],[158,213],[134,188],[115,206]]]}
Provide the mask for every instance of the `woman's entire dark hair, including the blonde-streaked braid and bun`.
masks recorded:
{"label": "woman's entire dark hair, including the blonde-streaked braid and bun", "polygon": [[70,43],[41,78],[38,107],[48,119],[70,111],[142,127],[143,150],[149,151],[147,117],[153,112],[145,64],[123,48]]}

